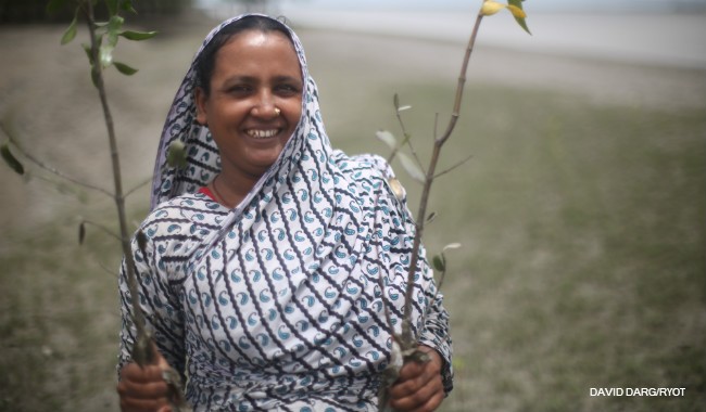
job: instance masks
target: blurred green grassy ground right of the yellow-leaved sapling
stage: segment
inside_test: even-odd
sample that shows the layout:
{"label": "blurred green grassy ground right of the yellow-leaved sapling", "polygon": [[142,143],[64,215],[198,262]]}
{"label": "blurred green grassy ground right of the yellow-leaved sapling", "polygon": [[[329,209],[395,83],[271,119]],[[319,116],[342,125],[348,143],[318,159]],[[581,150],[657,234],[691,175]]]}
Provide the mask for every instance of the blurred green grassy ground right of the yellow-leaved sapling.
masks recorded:
{"label": "blurred green grassy ground right of the yellow-leaved sapling", "polygon": [[[409,89],[412,119],[451,92]],[[702,410],[703,111],[477,85],[468,95],[445,160],[475,157],[439,181],[427,232],[432,250],[465,245],[444,286],[458,373],[444,410]]]}

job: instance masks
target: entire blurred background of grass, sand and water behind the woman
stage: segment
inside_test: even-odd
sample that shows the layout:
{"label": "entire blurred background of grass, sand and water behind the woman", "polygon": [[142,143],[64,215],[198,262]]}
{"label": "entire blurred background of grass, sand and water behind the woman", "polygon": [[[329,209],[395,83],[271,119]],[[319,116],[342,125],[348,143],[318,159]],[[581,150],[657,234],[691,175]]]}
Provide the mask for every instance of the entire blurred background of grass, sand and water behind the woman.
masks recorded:
{"label": "entire blurred background of grass, sand and water behind the woman", "polygon": [[[140,0],[144,42],[109,73],[131,220],[146,215],[166,112],[204,36],[244,11],[285,15],[302,39],[333,144],[424,157],[443,128],[472,1]],[[98,96],[72,13],[0,1],[0,120],[33,155],[111,188]],[[706,1],[527,0],[527,24],[483,20],[425,243],[452,242],[443,291],[455,389],[443,411],[701,411],[706,405]],[[26,165],[29,163],[25,162]],[[417,209],[418,188],[393,165]],[[0,410],[118,410],[118,245],[112,199],[0,167]],[[683,397],[592,397],[683,387]]]}

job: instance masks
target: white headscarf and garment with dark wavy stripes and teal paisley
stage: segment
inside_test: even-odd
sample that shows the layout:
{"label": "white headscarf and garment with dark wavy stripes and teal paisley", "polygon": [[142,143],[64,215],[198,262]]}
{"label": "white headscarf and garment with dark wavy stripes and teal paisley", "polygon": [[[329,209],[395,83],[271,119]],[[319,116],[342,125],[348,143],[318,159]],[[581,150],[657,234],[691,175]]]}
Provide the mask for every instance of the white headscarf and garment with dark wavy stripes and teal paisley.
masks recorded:
{"label": "white headscarf and garment with dark wavy stripes and teal paisley", "polygon": [[[306,89],[276,163],[234,209],[198,193],[219,158],[193,121],[192,67],[160,143],[154,208],[140,227],[147,245],[133,241],[136,298],[197,411],[377,410],[392,347],[386,306],[400,332],[414,222],[382,158],[331,149],[303,48],[290,36]],[[166,165],[176,139],[189,153],[181,170]],[[125,269],[118,366],[135,339]],[[447,313],[425,258],[416,273],[415,335],[444,358],[451,390]]]}

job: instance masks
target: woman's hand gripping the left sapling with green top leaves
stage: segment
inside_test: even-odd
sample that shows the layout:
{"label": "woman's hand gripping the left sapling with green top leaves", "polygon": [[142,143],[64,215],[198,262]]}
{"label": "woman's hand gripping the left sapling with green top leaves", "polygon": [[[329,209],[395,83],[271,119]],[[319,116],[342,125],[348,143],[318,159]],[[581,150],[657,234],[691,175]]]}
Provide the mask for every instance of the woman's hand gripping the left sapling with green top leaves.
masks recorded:
{"label": "woman's hand gripping the left sapling with green top leaves", "polygon": [[155,364],[141,368],[130,362],[121,370],[117,394],[123,412],[168,412],[167,384],[162,372],[169,368],[159,350]]}

